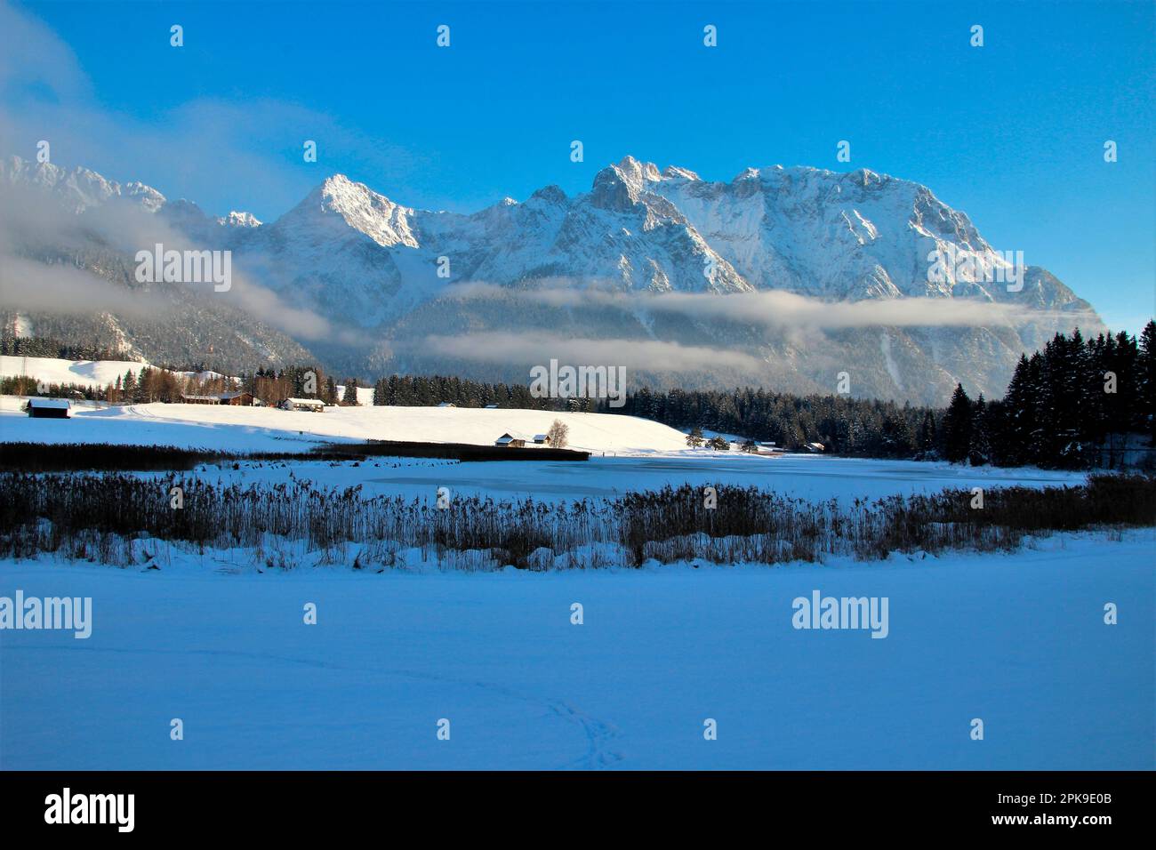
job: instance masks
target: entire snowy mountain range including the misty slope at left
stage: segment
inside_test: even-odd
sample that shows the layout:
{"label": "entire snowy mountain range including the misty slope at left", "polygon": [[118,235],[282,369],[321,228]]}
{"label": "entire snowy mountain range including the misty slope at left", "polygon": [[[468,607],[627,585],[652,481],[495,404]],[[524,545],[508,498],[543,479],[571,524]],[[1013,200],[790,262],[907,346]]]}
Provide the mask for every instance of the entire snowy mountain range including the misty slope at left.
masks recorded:
{"label": "entire snowy mountain range including the misty slope at left", "polygon": [[[234,286],[141,282],[154,245],[232,252]],[[966,258],[933,269],[936,256]],[[271,223],[140,183],[0,161],[6,335],[218,371],[319,362],[343,376],[528,380],[562,362],[630,385],[751,384],[942,404],[999,397],[1021,353],[1103,325],[919,184],[866,169],[748,169],[729,183],[627,157],[591,190],[470,215],[342,175]],[[993,274],[994,273],[994,274]]]}

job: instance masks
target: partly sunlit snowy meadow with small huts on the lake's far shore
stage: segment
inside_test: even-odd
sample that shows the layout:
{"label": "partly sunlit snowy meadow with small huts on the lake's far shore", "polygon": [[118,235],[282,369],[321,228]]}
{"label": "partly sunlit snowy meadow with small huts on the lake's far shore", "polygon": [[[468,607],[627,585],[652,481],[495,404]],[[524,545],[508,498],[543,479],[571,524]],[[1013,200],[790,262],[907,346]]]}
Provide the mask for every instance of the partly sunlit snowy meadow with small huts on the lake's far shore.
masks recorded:
{"label": "partly sunlit snowy meadow with small huts on the lake's far shore", "polygon": [[[571,449],[620,454],[686,450],[686,435],[635,416],[467,407],[327,407],[324,413],[229,405],[129,405],[75,411],[71,420],[30,420],[5,397],[0,437],[16,442],[161,444],[234,451],[292,451],[333,439],[402,439],[494,445],[505,433],[533,439],[554,420]],[[288,443],[288,444],[287,444]]]}

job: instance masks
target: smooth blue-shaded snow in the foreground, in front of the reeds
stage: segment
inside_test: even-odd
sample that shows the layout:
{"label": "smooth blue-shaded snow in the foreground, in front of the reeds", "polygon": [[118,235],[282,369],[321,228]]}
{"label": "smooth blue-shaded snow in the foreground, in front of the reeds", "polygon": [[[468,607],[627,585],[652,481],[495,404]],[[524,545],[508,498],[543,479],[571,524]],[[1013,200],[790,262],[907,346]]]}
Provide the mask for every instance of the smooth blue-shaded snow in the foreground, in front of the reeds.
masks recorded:
{"label": "smooth blue-shaded snow in the foreground, in front of the reeds", "polygon": [[[0,596],[91,597],[92,634],[0,633],[0,767],[1150,769],[1154,542],[544,575],[9,561]],[[796,630],[814,590],[887,597],[888,636]]]}

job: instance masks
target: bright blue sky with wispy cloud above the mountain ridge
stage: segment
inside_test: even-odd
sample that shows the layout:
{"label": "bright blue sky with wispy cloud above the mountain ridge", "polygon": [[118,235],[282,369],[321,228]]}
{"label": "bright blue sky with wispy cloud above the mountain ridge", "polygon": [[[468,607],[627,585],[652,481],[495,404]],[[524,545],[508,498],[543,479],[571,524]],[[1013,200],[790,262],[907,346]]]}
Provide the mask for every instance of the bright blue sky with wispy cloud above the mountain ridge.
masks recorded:
{"label": "bright blue sky with wispy cloud above the mountain ridge", "polygon": [[49,139],[58,164],[264,220],[334,172],[472,212],[586,191],[627,154],[722,180],[866,167],[927,184],[1135,331],[1156,312],[1154,9],[25,2],[0,10],[21,21],[0,35],[0,153]]}

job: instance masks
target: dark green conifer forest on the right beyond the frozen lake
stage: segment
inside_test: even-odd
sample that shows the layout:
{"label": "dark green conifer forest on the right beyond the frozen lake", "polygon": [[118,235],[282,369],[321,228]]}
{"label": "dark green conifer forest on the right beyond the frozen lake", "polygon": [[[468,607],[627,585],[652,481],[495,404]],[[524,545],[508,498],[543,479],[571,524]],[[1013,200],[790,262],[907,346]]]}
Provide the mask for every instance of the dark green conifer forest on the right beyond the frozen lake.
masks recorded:
{"label": "dark green conifer forest on the right beyond the frozen lake", "polygon": [[944,459],[973,465],[1047,468],[1150,468],[1156,414],[1156,323],[1140,339],[1120,332],[1084,339],[1057,334],[1022,356],[1002,399],[971,398],[957,385],[946,409],[849,396],[791,396],[753,390],[630,393],[602,407],[675,428],[799,449],[818,442],[852,457]]}

